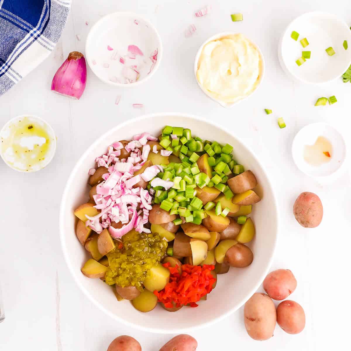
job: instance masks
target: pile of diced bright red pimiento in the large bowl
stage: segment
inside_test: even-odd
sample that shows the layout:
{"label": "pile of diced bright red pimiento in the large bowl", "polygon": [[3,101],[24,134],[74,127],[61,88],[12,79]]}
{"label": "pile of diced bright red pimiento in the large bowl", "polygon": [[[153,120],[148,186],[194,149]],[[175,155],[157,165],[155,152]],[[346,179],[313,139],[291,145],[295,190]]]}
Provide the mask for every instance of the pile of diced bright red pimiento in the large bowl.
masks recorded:
{"label": "pile of diced bright red pimiento in the large bowl", "polygon": [[154,291],[158,302],[162,302],[165,307],[176,307],[190,304],[191,307],[197,307],[201,297],[212,291],[212,286],[216,282],[211,271],[213,265],[191,266],[184,264],[181,266],[181,275],[178,272],[178,266],[171,267],[170,263],[163,264],[170,270],[170,282],[161,291]]}

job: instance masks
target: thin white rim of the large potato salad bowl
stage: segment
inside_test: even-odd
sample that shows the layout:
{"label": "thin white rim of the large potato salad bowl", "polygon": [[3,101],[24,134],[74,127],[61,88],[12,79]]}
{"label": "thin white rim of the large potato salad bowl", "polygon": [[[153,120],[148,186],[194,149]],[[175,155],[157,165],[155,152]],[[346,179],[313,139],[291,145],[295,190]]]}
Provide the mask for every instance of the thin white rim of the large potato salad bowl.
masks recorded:
{"label": "thin white rim of the large potato salad bowl", "polygon": [[142,116],[139,116],[139,117],[136,117],[136,118],[133,118],[133,119],[130,119],[130,120],[126,120],[125,122],[122,122],[121,124],[115,126],[114,128],[110,129],[109,131],[107,131],[106,133],[104,133],[103,135],[101,135],[101,137],[99,137],[97,140],[94,141],[94,143],[88,147],[88,149],[81,155],[81,157],[78,159],[77,163],[75,164],[71,174],[69,175],[69,178],[67,180],[67,183],[66,183],[66,186],[65,186],[65,190],[64,190],[64,193],[62,194],[62,198],[61,198],[61,204],[60,204],[60,216],[59,216],[59,227],[60,227],[60,241],[61,241],[61,248],[62,248],[62,252],[64,254],[64,258],[65,258],[65,261],[66,261],[66,264],[68,266],[68,269],[69,271],[71,272],[72,276],[73,276],[73,279],[74,279],[74,282],[80,287],[81,291],[88,297],[88,299],[95,305],[97,306],[101,311],[105,312],[108,316],[110,316],[111,318],[117,320],[118,322],[122,323],[122,324],[125,324],[127,326],[131,326],[133,328],[136,328],[136,329],[139,329],[139,330],[142,330],[142,331],[146,331],[146,332],[151,332],[151,333],[159,333],[159,334],[181,334],[181,333],[188,333],[190,331],[193,331],[193,330],[198,330],[198,329],[201,329],[201,328],[204,328],[206,326],[210,326],[214,323],[217,323],[219,322],[220,320],[223,320],[224,318],[226,318],[227,316],[229,316],[230,314],[232,314],[233,312],[237,311],[241,306],[243,306],[247,299],[249,299],[258,289],[258,287],[262,284],[264,278],[266,277],[271,265],[272,265],[272,261],[273,261],[273,258],[274,258],[274,252],[276,250],[276,247],[277,247],[277,240],[278,240],[278,233],[279,233],[279,229],[280,229],[280,224],[279,224],[279,211],[278,211],[278,201],[277,201],[277,197],[276,197],[276,194],[274,193],[274,190],[273,190],[273,186],[272,186],[272,183],[270,181],[270,178],[268,177],[266,171],[264,171],[266,173],[266,178],[267,178],[267,182],[272,190],[272,198],[273,198],[273,202],[274,202],[274,208],[276,210],[276,218],[277,218],[277,225],[276,225],[276,235],[275,235],[275,238],[274,238],[274,244],[273,244],[273,250],[272,250],[272,256],[269,258],[269,261],[267,263],[267,267],[265,269],[265,271],[263,272],[263,274],[261,275],[259,281],[257,282],[256,286],[254,286],[254,288],[250,291],[250,293],[247,294],[247,296],[249,296],[247,299],[242,299],[236,306],[234,306],[232,309],[226,311],[225,313],[223,313],[221,316],[217,317],[217,318],[214,318],[212,319],[211,321],[209,322],[205,322],[205,323],[202,323],[202,324],[199,324],[197,326],[194,326],[194,327],[191,327],[191,328],[176,328],[176,329],[169,329],[167,331],[163,330],[163,329],[158,329],[158,328],[153,328],[153,327],[148,327],[148,326],[141,326],[141,325],[136,325],[134,323],[131,323],[131,322],[128,322],[126,320],[124,320],[122,317],[119,317],[115,314],[113,314],[112,312],[110,312],[109,310],[105,309],[105,307],[101,306],[99,304],[99,302],[97,300],[95,300],[90,292],[85,289],[85,287],[77,282],[77,280],[75,280],[74,278],[74,275],[75,275],[75,270],[74,268],[72,267],[72,265],[69,263],[69,258],[68,258],[68,253],[66,251],[66,248],[65,248],[65,232],[64,232],[64,229],[63,229],[63,225],[62,223],[64,223],[65,221],[65,217],[64,217],[64,213],[65,213],[65,204],[66,204],[66,199],[67,199],[67,196],[68,196],[68,189],[74,179],[73,177],[73,174],[75,173],[74,171],[79,168],[83,162],[83,159],[85,159],[85,157],[90,153],[90,150],[93,149],[94,147],[98,146],[99,144],[101,144],[105,139],[106,139],[106,135],[110,135],[110,134],[113,134],[115,133],[115,131],[117,131],[118,129],[120,129],[121,127],[124,127],[126,125],[129,125],[129,124],[135,124],[135,125],[138,125],[138,121],[140,120],[144,120],[144,119],[148,119],[148,118],[152,118],[152,117],[165,117],[165,120],[168,116],[182,116],[182,117],[186,117],[186,118],[190,118],[190,119],[195,119],[199,122],[206,122],[207,124],[210,124],[212,125],[213,127],[216,127],[218,129],[220,129],[221,131],[225,132],[225,133],[228,133],[230,134],[234,139],[237,139],[239,141],[239,143],[245,145],[245,148],[247,148],[247,150],[252,154],[252,157],[253,159],[258,163],[258,165],[263,169],[265,170],[265,167],[263,166],[263,164],[261,163],[261,161],[256,157],[256,154],[251,150],[250,147],[246,146],[246,144],[238,137],[234,136],[232,133],[228,132],[225,130],[224,127],[222,126],[218,126],[217,123],[214,123],[210,120],[207,120],[207,119],[203,119],[203,118],[200,118],[196,115],[192,115],[192,114],[187,114],[187,113],[177,113],[177,112],[159,112],[159,113],[150,113],[150,114],[146,114],[146,115],[142,115]]}

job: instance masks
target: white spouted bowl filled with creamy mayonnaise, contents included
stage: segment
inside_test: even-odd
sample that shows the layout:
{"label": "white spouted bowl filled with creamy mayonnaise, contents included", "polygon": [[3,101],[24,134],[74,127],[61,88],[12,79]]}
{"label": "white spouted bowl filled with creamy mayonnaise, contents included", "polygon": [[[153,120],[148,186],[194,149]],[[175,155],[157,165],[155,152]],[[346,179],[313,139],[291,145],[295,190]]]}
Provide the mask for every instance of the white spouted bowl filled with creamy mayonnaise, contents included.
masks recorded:
{"label": "white spouted bowl filled with creamy mayonnaise, contents included", "polygon": [[241,33],[223,32],[207,39],[194,63],[201,90],[223,107],[247,99],[261,84],[265,63],[260,48]]}

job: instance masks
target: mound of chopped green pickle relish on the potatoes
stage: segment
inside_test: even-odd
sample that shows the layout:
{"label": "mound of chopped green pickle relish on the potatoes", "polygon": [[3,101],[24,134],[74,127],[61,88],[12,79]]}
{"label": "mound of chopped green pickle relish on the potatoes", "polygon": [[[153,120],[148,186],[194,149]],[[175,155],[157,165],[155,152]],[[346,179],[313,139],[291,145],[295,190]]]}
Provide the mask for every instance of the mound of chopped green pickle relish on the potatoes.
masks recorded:
{"label": "mound of chopped green pickle relish on the potatoes", "polygon": [[123,243],[109,252],[106,283],[121,287],[135,286],[143,290],[141,282],[150,277],[150,269],[165,256],[167,241],[157,233],[131,231],[122,237]]}

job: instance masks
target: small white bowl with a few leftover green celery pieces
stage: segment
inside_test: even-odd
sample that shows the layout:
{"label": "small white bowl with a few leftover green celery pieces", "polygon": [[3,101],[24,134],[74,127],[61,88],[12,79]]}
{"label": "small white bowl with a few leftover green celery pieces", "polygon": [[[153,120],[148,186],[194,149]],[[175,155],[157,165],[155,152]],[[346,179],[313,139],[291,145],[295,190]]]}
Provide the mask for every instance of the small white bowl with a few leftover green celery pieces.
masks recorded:
{"label": "small white bowl with a few leftover green celery pieces", "polygon": [[[297,41],[291,33],[298,32]],[[305,48],[300,40],[307,38]],[[347,40],[349,48],[343,47]],[[329,56],[325,49],[333,47],[335,55]],[[302,51],[311,51],[311,58],[301,66],[296,60]],[[308,12],[294,19],[285,29],[278,46],[278,57],[283,70],[294,80],[306,84],[322,84],[338,79],[351,64],[351,31],[336,15],[326,12]]]}

